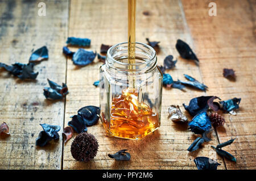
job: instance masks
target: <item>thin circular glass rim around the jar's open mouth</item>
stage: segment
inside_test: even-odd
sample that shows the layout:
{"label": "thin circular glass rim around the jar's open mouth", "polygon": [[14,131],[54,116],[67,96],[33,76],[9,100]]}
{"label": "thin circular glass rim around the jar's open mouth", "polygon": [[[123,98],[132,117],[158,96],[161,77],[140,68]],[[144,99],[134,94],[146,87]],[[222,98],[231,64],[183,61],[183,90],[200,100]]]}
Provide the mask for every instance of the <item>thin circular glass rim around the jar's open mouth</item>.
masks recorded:
{"label": "thin circular glass rim around the jar's open mouth", "polygon": [[[113,45],[112,47],[110,47],[110,48],[108,49],[108,52],[107,52],[107,57],[108,57],[110,60],[112,60],[113,62],[115,62],[115,63],[117,63],[117,64],[119,64],[119,65],[124,65],[124,66],[128,66],[128,65],[136,66],[136,65],[137,65],[137,66],[138,66],[138,65],[148,64],[148,62],[151,62],[151,61],[156,60],[156,52],[155,52],[155,49],[152,48],[150,45],[147,45],[147,44],[144,44],[144,43],[140,43],[140,42],[135,42],[135,47],[136,47],[136,45],[143,45],[144,47],[150,49],[150,52],[153,52],[153,53],[154,53],[153,56],[152,56],[150,59],[148,58],[148,59],[147,59],[146,61],[144,61],[144,62],[139,62],[139,63],[135,63],[135,64],[129,64],[129,63],[126,63],[126,62],[121,62],[121,61],[115,60],[115,58],[112,57],[112,52],[113,52],[113,50],[114,50],[116,47],[118,47],[119,45],[123,45],[123,44],[127,44],[127,45],[128,45],[128,42],[125,41],[125,42],[122,42],[122,43],[115,44],[115,45]],[[135,54],[136,54],[136,50],[135,50]],[[108,59],[108,58],[107,58],[107,59]],[[108,60],[106,60],[106,61],[108,61]]]}

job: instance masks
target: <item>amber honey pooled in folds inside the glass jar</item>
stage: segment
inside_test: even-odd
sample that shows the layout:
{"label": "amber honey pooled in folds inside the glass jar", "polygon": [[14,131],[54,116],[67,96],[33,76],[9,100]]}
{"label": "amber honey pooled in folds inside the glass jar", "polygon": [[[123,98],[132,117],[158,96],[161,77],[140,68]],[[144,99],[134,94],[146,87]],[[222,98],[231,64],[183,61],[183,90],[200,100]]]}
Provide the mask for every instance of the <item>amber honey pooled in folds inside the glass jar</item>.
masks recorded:
{"label": "amber honey pooled in folds inside the glass jar", "polygon": [[113,98],[110,121],[103,121],[111,136],[139,140],[159,127],[159,115],[138,98],[130,89]]}

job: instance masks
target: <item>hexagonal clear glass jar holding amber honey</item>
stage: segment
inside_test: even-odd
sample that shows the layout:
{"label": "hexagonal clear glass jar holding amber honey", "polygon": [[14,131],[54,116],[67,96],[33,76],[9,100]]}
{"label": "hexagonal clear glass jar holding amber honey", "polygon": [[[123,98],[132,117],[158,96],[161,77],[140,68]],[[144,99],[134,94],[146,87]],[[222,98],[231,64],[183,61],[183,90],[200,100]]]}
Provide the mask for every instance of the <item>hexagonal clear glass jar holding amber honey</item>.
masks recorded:
{"label": "hexagonal clear glass jar holding amber honey", "polygon": [[160,126],[163,75],[152,47],[136,43],[129,64],[127,45],[109,48],[100,68],[100,118],[109,136],[140,140]]}

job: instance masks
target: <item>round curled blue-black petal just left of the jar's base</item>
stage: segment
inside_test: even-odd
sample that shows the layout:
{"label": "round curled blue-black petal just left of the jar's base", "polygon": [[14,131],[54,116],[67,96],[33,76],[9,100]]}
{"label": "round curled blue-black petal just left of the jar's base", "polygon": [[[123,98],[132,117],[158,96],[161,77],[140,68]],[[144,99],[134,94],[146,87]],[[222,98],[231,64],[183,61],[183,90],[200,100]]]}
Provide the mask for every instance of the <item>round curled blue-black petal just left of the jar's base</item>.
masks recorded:
{"label": "round curled blue-black petal just left of the jar's base", "polygon": [[92,126],[98,123],[98,119],[100,118],[100,107],[85,106],[77,111],[77,113],[85,121],[86,125]]}

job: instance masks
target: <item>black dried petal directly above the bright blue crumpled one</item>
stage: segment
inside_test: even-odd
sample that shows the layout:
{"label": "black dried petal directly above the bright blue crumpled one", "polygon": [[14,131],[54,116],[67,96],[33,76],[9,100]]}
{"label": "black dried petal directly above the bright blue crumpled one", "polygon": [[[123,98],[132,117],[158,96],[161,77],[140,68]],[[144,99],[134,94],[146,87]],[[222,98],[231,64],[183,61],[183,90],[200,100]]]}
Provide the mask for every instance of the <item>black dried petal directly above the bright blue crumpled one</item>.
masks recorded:
{"label": "black dried petal directly above the bright blue crumpled one", "polygon": [[209,105],[207,104],[207,101],[212,97],[213,96],[200,96],[193,98],[190,100],[188,106],[185,106],[185,104],[183,104],[183,106],[191,116],[196,116],[198,113],[208,110]]}

